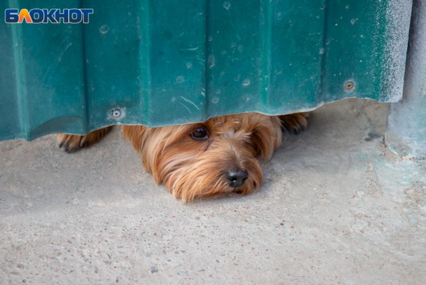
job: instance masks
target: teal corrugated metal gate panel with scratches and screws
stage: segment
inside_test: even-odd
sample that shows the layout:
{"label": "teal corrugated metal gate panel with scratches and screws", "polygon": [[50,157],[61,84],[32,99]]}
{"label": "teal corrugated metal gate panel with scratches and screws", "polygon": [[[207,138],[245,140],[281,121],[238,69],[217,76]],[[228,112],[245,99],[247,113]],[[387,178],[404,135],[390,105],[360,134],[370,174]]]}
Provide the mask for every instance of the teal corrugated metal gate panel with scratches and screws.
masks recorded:
{"label": "teal corrugated metal gate panel with scratches and screws", "polygon": [[[10,0],[89,24],[0,23],[0,139],[401,98],[410,0]],[[118,111],[117,111],[118,110]]]}

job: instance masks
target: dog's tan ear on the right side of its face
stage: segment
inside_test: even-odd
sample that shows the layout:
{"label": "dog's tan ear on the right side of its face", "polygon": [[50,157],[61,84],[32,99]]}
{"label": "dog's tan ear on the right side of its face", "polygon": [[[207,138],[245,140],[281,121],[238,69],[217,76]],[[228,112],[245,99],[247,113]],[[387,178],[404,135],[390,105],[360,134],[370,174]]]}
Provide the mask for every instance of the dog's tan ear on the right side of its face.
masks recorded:
{"label": "dog's tan ear on the right side of its face", "polygon": [[257,125],[252,130],[251,141],[256,157],[269,160],[274,151],[281,145],[283,133],[278,117],[269,117],[270,121]]}

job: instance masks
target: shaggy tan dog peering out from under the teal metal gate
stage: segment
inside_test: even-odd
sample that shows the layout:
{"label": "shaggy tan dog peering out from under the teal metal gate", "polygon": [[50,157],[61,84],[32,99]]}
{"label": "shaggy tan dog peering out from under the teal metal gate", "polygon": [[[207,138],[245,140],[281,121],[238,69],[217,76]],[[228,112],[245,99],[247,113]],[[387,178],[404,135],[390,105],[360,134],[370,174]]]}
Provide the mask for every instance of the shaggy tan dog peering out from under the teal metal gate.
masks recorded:
{"label": "shaggy tan dog peering out from under the teal metal gate", "polygon": [[[246,195],[259,188],[263,178],[259,161],[268,161],[288,132],[305,130],[308,117],[308,112],[243,113],[177,126],[125,125],[122,134],[154,181],[186,203],[203,197]],[[73,152],[96,143],[111,129],[58,134],[57,140],[60,148]]]}

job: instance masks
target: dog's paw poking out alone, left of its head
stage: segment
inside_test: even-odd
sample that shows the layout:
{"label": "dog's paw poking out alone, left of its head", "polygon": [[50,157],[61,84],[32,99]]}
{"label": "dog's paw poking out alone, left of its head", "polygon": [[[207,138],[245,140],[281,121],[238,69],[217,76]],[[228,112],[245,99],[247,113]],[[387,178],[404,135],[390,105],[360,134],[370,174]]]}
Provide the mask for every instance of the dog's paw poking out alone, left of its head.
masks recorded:
{"label": "dog's paw poking out alone, left of its head", "polygon": [[64,147],[67,153],[87,148],[99,141],[105,134],[112,129],[112,126],[104,127],[89,132],[86,135],[77,134],[58,134],[56,136],[59,148]]}

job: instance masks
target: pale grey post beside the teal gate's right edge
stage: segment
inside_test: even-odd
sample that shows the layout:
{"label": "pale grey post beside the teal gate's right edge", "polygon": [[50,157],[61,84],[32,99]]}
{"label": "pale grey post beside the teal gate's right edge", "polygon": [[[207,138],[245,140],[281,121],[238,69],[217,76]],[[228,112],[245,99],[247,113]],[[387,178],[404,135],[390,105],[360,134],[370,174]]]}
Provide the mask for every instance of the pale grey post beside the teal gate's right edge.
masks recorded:
{"label": "pale grey post beside the teal gate's right edge", "polygon": [[426,2],[413,1],[404,94],[391,104],[386,145],[408,158],[426,158]]}

